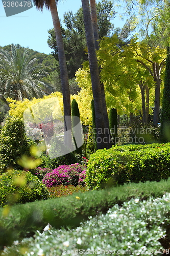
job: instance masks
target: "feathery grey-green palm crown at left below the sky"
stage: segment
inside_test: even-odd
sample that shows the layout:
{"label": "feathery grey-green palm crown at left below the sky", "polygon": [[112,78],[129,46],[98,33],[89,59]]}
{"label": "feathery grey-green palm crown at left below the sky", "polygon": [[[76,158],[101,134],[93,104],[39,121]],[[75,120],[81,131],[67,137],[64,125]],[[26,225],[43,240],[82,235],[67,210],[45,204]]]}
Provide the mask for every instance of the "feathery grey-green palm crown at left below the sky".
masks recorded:
{"label": "feathery grey-green palm crown at left below the sky", "polygon": [[40,97],[54,89],[42,78],[47,74],[41,65],[35,65],[36,58],[28,54],[28,48],[22,50],[11,45],[11,53],[0,50],[0,99],[16,100]]}

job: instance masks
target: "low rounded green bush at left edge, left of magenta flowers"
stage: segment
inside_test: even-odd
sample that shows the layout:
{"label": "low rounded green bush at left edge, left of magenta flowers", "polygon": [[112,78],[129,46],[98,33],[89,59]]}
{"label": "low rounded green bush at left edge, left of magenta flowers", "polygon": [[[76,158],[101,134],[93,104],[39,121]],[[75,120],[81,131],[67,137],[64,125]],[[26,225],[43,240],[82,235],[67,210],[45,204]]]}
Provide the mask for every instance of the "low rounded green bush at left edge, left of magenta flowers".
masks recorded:
{"label": "low rounded green bush at left edge, left of magenta flowers", "polygon": [[45,185],[30,172],[10,170],[0,176],[0,206],[48,198]]}

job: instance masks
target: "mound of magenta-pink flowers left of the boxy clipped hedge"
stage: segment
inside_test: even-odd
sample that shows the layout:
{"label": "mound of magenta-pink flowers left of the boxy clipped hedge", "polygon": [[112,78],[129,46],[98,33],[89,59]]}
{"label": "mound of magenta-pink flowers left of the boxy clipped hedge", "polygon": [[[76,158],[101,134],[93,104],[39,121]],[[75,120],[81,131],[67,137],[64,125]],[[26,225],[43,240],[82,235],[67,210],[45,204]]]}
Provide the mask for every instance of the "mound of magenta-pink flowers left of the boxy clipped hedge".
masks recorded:
{"label": "mound of magenta-pink flowers left of the boxy clipped hedge", "polygon": [[84,179],[86,176],[86,169],[79,163],[70,165],[60,165],[58,168],[47,173],[42,182],[47,187],[57,185],[85,185]]}

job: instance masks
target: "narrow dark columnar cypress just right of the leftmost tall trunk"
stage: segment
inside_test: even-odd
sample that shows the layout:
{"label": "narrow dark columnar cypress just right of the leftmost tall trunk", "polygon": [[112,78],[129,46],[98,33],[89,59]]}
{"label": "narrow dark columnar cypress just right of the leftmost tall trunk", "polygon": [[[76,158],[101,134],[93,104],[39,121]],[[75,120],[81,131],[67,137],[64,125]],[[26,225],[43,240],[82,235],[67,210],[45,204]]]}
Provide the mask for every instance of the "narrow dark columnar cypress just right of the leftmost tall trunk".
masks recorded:
{"label": "narrow dark columnar cypress just right of the leftmost tall trunk", "polygon": [[[79,117],[79,119],[78,118],[76,118],[76,117]],[[79,125],[80,124],[80,111],[79,111],[79,106],[78,106],[78,103],[77,103],[77,101],[75,100],[75,99],[73,99],[72,100],[72,102],[71,102],[71,125],[72,125],[72,133],[73,133],[73,136],[76,134],[76,136],[79,138],[81,138],[82,137],[82,135],[81,135],[81,126],[80,126],[80,130],[79,130],[79,133],[77,132],[76,133],[76,131],[75,131],[75,127],[77,126],[77,125]],[[82,155],[82,146],[81,147],[77,147],[77,143],[76,143],[76,139],[75,139],[75,137],[74,137],[74,142],[75,142],[75,145],[76,145],[76,153],[77,154],[81,154]]]}

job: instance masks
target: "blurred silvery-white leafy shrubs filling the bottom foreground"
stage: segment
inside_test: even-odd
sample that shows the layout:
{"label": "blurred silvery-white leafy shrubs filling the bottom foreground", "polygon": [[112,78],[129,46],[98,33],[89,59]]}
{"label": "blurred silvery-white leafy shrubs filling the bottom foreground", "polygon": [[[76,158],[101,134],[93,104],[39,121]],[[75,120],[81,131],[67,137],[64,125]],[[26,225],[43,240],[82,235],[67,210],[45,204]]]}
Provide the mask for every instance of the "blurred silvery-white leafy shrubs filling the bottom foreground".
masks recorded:
{"label": "blurred silvery-white leafy shrubs filling the bottom foreground", "polygon": [[147,201],[131,199],[113,206],[106,215],[90,217],[76,229],[48,225],[34,238],[15,241],[2,255],[161,255],[159,242],[170,222],[170,194]]}

